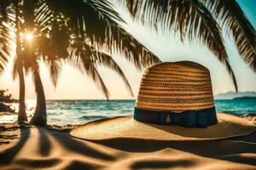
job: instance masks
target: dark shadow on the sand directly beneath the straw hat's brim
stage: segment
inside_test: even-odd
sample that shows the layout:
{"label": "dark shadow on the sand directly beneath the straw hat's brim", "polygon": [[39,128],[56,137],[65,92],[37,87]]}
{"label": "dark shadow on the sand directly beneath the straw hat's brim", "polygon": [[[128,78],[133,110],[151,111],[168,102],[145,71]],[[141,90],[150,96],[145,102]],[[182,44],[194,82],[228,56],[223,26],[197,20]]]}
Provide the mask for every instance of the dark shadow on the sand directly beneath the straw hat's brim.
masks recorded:
{"label": "dark shadow on the sand directly beneath the straw hat's brim", "polygon": [[255,156],[242,156],[243,153],[255,154],[256,133],[240,138],[210,141],[166,142],[137,139],[109,139],[97,141],[96,143],[126,152],[154,152],[169,148],[213,159],[256,165]]}

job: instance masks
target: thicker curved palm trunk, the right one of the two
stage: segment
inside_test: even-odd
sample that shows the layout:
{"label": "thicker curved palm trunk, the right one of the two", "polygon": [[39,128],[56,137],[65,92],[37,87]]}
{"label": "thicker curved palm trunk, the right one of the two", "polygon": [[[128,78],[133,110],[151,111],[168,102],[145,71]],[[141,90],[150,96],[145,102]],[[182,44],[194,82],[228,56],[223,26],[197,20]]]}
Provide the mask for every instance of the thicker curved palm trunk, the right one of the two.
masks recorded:
{"label": "thicker curved palm trunk, the right one of the two", "polygon": [[33,71],[35,78],[35,87],[37,92],[37,106],[34,116],[32,116],[31,123],[33,125],[45,126],[47,124],[46,102],[44,96],[44,87],[38,68]]}

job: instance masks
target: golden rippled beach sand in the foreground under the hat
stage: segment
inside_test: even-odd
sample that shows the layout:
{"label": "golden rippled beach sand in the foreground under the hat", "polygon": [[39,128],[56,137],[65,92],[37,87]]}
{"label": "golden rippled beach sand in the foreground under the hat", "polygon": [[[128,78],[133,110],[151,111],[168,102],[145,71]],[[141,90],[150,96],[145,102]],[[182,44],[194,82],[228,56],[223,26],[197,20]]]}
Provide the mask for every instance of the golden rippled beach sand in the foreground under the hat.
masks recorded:
{"label": "golden rippled beach sand in the foreground under the hat", "polygon": [[72,127],[0,125],[0,169],[256,169],[256,133],[200,142],[90,142]]}

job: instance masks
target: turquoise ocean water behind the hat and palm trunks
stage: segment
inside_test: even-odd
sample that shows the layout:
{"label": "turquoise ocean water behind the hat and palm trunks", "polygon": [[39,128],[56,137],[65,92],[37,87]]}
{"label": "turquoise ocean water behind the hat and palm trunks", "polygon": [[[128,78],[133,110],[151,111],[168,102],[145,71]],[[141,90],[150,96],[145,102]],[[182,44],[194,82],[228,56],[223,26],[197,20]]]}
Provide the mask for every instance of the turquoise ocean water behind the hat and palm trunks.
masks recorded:
{"label": "turquoise ocean water behind the hat and palm trunks", "polygon": [[[135,100],[48,100],[48,124],[84,124],[101,118],[132,115]],[[218,112],[241,116],[256,114],[256,99],[217,99],[214,101]],[[26,100],[27,115],[32,117],[35,100]],[[18,105],[12,104],[18,111]],[[17,114],[0,114],[1,122],[15,122]]]}

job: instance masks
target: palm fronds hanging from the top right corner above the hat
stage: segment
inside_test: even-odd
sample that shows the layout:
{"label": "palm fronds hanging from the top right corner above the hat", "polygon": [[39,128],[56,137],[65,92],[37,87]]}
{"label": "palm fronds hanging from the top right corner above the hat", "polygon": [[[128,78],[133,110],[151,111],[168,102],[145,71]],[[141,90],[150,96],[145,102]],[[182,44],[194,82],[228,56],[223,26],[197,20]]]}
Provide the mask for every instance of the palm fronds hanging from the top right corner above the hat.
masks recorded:
{"label": "palm fronds hanging from the top right corner above the hat", "polygon": [[221,28],[227,28],[234,37],[242,59],[256,71],[256,32],[236,0],[119,0],[126,3],[132,16],[144,24],[162,31],[178,31],[181,41],[197,39],[226,66],[233,79],[236,77],[229,64]]}

